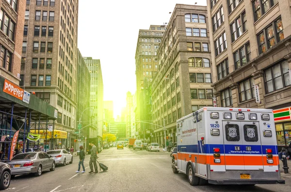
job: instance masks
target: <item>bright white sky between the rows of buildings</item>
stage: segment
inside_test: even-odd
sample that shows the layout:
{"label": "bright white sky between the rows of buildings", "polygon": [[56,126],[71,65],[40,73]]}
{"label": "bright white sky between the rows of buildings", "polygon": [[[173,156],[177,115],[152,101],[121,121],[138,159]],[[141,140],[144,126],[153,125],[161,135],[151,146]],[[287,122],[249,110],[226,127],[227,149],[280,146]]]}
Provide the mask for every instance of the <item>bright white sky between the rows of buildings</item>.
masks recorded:
{"label": "bright white sky between the rows of buildings", "polygon": [[168,23],[176,4],[206,5],[206,0],[79,0],[78,47],[83,57],[100,59],[104,101],[114,117],[136,91],[135,50],[140,29]]}

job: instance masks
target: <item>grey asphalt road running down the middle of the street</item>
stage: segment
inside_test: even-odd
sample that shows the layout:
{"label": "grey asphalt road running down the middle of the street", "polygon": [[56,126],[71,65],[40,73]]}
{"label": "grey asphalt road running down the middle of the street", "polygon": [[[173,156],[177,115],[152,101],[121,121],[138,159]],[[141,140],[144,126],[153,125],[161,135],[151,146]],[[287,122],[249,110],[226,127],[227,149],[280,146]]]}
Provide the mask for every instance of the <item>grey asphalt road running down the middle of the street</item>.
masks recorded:
{"label": "grey asphalt road running down the middle of the street", "polygon": [[89,155],[85,158],[86,173],[76,174],[79,156],[73,164],[57,166],[40,177],[16,176],[8,192],[290,192],[291,178],[285,185],[256,186],[191,186],[184,174],[174,174],[168,152],[148,152],[129,148],[104,149],[99,162],[107,172],[89,174]]}

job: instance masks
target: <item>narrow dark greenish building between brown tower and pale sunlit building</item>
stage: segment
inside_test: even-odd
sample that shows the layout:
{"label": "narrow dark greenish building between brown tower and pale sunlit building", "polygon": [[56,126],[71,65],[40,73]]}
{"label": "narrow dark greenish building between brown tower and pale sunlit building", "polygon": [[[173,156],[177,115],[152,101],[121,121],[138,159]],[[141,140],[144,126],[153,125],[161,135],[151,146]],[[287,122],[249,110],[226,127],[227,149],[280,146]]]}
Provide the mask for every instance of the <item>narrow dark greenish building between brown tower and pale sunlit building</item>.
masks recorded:
{"label": "narrow dark greenish building between brown tower and pale sunlit building", "polygon": [[[76,133],[79,133],[79,139],[82,143],[86,143],[85,139],[90,137],[90,81],[91,76],[89,70],[85,64],[85,61],[78,49],[78,66],[77,66],[77,122],[81,124],[81,130],[77,129]],[[81,122],[79,122],[79,120]],[[84,127],[84,128],[83,128]],[[78,133],[77,133],[78,132]],[[71,141],[74,142],[74,141]]]}

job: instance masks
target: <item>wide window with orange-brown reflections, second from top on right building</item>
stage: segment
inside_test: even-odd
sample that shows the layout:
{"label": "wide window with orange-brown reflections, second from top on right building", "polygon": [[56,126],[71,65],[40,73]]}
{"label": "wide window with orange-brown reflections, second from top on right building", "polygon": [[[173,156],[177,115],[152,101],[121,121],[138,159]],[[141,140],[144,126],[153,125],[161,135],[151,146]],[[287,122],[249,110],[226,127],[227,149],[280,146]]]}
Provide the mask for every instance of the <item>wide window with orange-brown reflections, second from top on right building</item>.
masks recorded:
{"label": "wide window with orange-brown reflections, second from top on right building", "polygon": [[284,39],[283,24],[281,17],[272,22],[258,35],[259,52],[264,53]]}

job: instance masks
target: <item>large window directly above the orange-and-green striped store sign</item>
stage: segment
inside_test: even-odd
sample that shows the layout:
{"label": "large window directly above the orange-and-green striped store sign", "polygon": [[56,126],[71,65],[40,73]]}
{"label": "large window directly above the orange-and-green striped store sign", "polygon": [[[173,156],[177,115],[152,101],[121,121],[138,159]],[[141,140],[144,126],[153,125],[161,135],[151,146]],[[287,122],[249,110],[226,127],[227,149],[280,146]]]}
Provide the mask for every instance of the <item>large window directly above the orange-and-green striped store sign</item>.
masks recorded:
{"label": "large window directly above the orange-and-green striped store sign", "polygon": [[290,86],[289,63],[284,60],[264,70],[264,78],[266,93]]}

